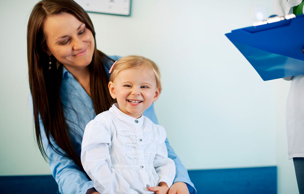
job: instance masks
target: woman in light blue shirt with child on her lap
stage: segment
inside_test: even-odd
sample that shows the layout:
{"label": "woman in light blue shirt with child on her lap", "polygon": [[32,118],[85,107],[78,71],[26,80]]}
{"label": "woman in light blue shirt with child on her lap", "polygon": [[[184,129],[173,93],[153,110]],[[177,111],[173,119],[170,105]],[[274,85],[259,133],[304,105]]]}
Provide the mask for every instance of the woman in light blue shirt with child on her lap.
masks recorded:
{"label": "woman in light blue shirt with child on her lap", "polygon": [[[118,57],[96,49],[88,14],[72,0],[37,3],[27,29],[29,85],[39,149],[49,159],[60,193],[97,193],[80,161],[85,125],[109,109],[108,73]],[[144,115],[154,123],[151,106]],[[168,141],[176,165],[169,194],[196,193]]]}

